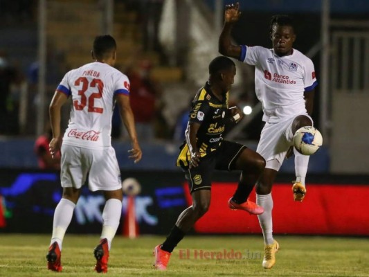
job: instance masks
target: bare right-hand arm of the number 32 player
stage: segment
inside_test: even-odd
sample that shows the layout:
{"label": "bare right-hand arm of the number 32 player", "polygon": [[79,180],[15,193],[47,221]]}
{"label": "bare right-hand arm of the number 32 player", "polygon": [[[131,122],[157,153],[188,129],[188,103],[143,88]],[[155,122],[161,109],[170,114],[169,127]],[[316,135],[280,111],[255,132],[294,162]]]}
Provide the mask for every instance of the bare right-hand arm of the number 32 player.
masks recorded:
{"label": "bare right-hand arm of the number 32 player", "polygon": [[123,124],[125,125],[125,129],[127,129],[132,143],[132,149],[128,151],[129,158],[134,159],[134,163],[138,163],[142,158],[142,151],[138,144],[136,127],[134,125],[134,115],[131,105],[129,104],[129,97],[120,94],[116,96],[116,101],[118,102],[120,118],[122,118]]}

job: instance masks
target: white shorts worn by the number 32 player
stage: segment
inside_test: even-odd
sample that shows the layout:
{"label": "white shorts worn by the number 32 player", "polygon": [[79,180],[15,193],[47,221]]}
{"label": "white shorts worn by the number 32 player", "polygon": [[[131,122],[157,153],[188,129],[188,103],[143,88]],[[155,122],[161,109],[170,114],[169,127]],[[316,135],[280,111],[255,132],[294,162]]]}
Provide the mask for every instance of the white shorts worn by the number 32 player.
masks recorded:
{"label": "white shorts worn by the number 32 player", "polygon": [[87,177],[91,191],[122,188],[114,148],[96,150],[63,144],[61,152],[60,179],[63,188],[81,188]]}

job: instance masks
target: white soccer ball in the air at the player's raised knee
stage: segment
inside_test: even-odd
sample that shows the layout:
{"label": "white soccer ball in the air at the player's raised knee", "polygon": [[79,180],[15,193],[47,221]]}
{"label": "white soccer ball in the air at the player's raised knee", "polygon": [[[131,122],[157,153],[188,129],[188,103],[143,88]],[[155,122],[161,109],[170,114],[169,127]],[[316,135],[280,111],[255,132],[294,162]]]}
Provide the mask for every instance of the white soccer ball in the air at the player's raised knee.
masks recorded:
{"label": "white soccer ball in the air at the player's raised knee", "polygon": [[323,137],[318,129],[305,126],[298,129],[294,135],[294,147],[303,155],[312,155],[321,148]]}

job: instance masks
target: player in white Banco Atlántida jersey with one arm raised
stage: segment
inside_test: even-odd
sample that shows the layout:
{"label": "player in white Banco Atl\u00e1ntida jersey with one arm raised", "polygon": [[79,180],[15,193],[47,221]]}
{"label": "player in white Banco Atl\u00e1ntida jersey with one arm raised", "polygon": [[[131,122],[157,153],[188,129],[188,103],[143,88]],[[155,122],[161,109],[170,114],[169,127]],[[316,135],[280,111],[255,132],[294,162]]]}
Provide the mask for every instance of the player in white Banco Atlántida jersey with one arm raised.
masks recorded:
{"label": "player in white Banco Atl\u00e1ntida jersey with one arm raised", "polygon": [[226,6],[224,27],[219,37],[219,53],[255,66],[255,92],[262,102],[264,128],[258,143],[258,153],[267,161],[256,184],[257,204],[264,208],[258,215],[264,236],[262,266],[270,269],[276,263],[279,244],[273,239],[273,199],[271,187],[285,157],[295,154],[296,181],[292,186],[295,201],[305,197],[305,177],[309,156],[303,156],[292,147],[297,129],[312,126],[314,87],[317,81],[312,60],[293,48],[296,39],[291,18],[272,17],[270,36],[273,48],[233,45],[231,30],[240,18],[239,4]]}

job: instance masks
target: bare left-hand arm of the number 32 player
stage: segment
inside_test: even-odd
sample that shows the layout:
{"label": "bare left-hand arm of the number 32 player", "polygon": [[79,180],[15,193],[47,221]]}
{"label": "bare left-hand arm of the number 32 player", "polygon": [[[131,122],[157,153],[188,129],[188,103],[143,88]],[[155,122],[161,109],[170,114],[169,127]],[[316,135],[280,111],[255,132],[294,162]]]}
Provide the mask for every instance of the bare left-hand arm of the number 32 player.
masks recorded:
{"label": "bare left-hand arm of the number 32 player", "polygon": [[60,150],[62,145],[62,134],[60,132],[60,121],[61,121],[61,109],[62,105],[66,102],[68,96],[66,94],[55,91],[53,99],[48,107],[48,114],[50,117],[51,130],[53,132],[53,139],[49,143],[49,151],[51,157],[55,157],[55,154]]}

